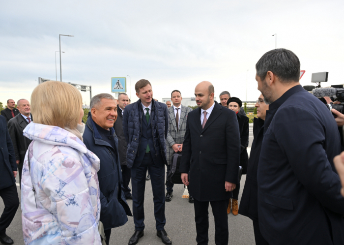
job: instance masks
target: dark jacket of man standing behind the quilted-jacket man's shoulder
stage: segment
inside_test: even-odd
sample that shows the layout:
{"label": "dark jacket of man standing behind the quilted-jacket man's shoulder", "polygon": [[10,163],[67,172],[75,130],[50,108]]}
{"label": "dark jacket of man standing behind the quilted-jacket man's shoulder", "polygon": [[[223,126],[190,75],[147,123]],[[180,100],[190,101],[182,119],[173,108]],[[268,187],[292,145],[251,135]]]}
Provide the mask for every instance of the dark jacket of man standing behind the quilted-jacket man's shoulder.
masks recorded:
{"label": "dark jacket of man standing behind the quilted-jacket man's shoulder", "polygon": [[127,165],[127,141],[123,132],[122,109],[117,105],[117,120],[114,123],[115,134],[118,138],[118,154],[120,165]]}

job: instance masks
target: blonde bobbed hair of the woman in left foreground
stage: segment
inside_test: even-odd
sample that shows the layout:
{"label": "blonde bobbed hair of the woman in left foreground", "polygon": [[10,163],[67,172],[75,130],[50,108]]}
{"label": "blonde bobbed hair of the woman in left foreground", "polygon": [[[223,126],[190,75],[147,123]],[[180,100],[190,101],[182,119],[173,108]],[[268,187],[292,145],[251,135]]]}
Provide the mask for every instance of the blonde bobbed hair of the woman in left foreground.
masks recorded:
{"label": "blonde bobbed hair of the woman in left foreground", "polygon": [[49,81],[31,94],[31,113],[35,123],[76,128],[83,105],[81,93],[72,85]]}

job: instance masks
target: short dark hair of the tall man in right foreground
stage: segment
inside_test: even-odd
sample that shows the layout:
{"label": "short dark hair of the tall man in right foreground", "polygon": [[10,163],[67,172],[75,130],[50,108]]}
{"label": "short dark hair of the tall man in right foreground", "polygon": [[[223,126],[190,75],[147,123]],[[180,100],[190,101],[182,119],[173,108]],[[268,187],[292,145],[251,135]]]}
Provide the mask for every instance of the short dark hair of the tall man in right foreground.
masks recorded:
{"label": "short dark hair of the tall man in right foreground", "polygon": [[300,81],[300,60],[287,49],[274,49],[265,53],[256,64],[257,75],[264,80],[268,71],[282,83]]}

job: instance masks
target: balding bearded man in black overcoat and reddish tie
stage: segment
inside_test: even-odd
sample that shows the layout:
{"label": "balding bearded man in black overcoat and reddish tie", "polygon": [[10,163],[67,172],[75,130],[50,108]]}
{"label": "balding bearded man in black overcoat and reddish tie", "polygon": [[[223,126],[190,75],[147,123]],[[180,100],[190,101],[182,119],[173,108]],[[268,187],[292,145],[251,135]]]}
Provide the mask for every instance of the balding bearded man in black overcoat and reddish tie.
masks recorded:
{"label": "balding bearded man in black overcoat and reddish tie", "polygon": [[[238,183],[240,134],[236,114],[214,101],[214,87],[195,89],[198,109],[188,115],[179,171],[194,197],[199,245],[208,244],[208,207],[215,219],[215,244],[228,244],[229,191]],[[190,174],[189,174],[190,171]]]}

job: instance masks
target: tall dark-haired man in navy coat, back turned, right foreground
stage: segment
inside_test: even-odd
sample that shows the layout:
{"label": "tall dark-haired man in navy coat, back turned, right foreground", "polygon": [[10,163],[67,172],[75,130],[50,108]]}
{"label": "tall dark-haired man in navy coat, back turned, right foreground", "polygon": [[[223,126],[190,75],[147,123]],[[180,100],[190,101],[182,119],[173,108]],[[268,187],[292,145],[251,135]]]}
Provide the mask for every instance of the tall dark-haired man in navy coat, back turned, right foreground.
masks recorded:
{"label": "tall dark-haired man in navy coat, back turned, right foreground", "polygon": [[258,222],[268,244],[344,244],[344,197],[333,164],[337,123],[302,88],[300,61],[286,49],[256,64],[258,90],[269,104],[258,164]]}

